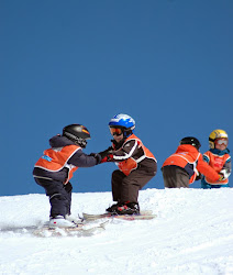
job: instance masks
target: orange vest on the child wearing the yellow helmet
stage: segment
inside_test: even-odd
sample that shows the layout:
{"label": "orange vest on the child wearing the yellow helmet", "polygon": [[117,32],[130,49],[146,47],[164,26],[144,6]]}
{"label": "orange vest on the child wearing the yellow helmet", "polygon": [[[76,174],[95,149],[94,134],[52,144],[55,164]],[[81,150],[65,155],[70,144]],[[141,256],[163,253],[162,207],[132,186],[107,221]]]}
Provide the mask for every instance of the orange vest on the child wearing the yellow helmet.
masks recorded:
{"label": "orange vest on the child wearing the yellow helmet", "polygon": [[[217,173],[220,173],[220,170],[223,168],[225,162],[230,158],[230,155],[229,154],[224,154],[224,155],[217,155],[217,154],[213,154],[211,153],[210,151],[206,152],[203,154],[204,156],[208,157],[209,160],[209,165],[217,172]],[[221,180],[221,182],[213,182],[211,180],[209,177],[204,177],[206,182],[208,184],[211,184],[211,185],[226,185],[229,183],[229,179],[224,179],[224,180]]]}

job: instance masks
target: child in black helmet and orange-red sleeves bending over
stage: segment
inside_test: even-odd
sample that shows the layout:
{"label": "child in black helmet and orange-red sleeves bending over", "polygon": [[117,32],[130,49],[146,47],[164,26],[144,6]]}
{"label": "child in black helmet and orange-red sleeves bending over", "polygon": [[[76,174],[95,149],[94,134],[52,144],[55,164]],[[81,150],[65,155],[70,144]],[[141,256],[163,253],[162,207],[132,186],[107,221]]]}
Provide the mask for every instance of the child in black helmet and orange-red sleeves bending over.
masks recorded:
{"label": "child in black helmet and orange-red sleeves bending over", "polygon": [[193,136],[184,138],[175,154],[170,155],[162,166],[164,185],[167,188],[189,188],[198,179],[199,173],[213,182],[223,178],[202,160],[199,152],[201,144]]}

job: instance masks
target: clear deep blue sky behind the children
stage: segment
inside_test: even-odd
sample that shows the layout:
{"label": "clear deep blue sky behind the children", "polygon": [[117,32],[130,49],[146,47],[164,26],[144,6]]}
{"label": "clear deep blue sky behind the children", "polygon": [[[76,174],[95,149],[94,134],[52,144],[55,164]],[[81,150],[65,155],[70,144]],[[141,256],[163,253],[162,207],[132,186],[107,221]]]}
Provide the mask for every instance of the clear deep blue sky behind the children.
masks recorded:
{"label": "clear deep blue sky behind the children", "polygon": [[[231,150],[232,14],[232,0],[1,0],[0,195],[43,194],[32,170],[48,139],[81,123],[85,152],[102,151],[116,113],[158,161],[145,188],[164,188],[160,166],[184,136],[204,153],[224,129]],[[79,168],[74,191],[111,190],[115,168]]]}

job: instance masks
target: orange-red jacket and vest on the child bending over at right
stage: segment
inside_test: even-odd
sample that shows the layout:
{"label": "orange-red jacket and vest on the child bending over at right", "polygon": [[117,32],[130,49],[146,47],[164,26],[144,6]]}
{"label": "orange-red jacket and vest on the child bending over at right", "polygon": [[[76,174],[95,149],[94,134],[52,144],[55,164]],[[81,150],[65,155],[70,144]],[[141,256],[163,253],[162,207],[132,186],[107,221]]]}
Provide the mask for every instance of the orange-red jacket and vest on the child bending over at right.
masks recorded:
{"label": "orange-red jacket and vest on the child bending over at right", "polygon": [[202,160],[201,153],[189,144],[179,145],[176,153],[164,162],[163,167],[169,165],[184,168],[189,174],[189,184],[196,180],[199,172],[213,182],[220,178],[220,175]]}

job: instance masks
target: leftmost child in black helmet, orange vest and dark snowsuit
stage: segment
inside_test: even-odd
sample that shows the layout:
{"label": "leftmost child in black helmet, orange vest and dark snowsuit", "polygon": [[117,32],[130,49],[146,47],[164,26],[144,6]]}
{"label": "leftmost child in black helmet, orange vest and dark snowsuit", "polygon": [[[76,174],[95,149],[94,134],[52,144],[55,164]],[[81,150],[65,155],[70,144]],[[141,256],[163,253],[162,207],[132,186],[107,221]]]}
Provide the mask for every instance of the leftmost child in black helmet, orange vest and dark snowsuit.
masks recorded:
{"label": "leftmost child in black helmet, orange vest and dark snowsuit", "polygon": [[70,124],[49,140],[51,148],[36,162],[33,176],[44,187],[51,202],[49,227],[75,227],[70,216],[71,189],[69,179],[78,167],[91,167],[100,163],[99,154],[86,155],[90,133],[81,124]]}

